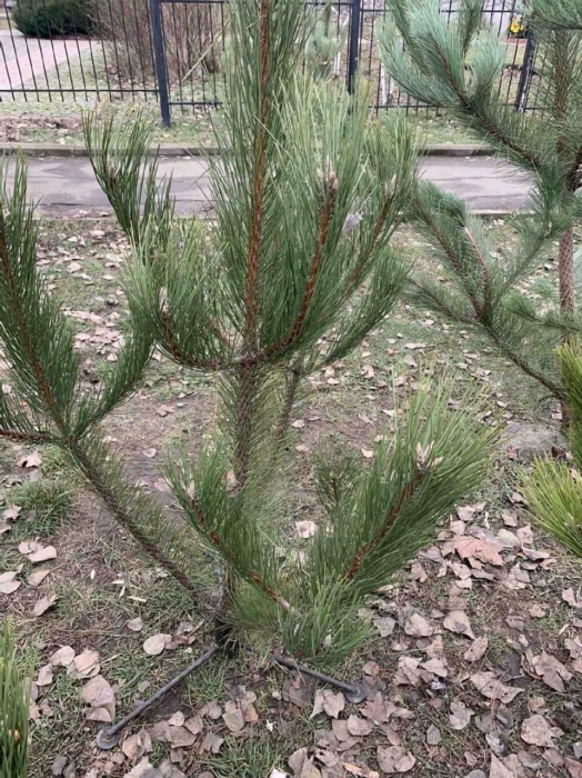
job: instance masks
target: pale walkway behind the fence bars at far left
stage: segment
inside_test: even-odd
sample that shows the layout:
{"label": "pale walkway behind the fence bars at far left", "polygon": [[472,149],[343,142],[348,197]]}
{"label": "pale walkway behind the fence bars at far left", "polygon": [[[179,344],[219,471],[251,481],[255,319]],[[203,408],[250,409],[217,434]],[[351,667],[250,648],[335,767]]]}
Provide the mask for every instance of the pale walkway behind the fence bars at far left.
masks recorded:
{"label": "pale walkway behind the fence bars at far left", "polygon": [[[46,89],[47,77],[49,81],[54,78],[56,68],[68,60],[77,63],[80,54],[87,51],[89,46],[88,40],[40,40],[24,38],[14,28],[0,30],[0,92],[20,89],[24,84],[38,84],[39,88]],[[64,88],[70,86],[66,83],[68,77],[69,70],[64,66]]]}

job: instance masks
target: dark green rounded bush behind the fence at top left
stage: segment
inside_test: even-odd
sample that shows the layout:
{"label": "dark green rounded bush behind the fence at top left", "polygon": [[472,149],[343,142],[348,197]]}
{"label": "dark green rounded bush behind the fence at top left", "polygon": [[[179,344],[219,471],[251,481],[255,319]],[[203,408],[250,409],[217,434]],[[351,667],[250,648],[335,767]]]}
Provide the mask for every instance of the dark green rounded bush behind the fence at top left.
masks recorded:
{"label": "dark green rounded bush behind the fence at top left", "polygon": [[20,32],[37,38],[88,36],[94,29],[87,0],[18,0],[12,19]]}

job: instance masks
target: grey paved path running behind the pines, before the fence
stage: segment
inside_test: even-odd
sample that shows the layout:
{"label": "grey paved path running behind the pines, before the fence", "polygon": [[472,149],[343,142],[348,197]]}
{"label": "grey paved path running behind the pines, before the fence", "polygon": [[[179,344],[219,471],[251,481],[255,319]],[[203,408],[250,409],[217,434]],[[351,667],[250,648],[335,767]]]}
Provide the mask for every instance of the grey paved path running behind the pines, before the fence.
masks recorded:
{"label": "grey paved path running behind the pines, before the fence", "polygon": [[[29,158],[29,194],[46,215],[106,215],[111,208],[87,158]],[[172,173],[172,188],[181,215],[209,208],[207,162],[178,157],[160,161],[160,173]],[[425,158],[423,174],[463,197],[475,211],[510,212],[528,203],[523,173],[488,157]]]}

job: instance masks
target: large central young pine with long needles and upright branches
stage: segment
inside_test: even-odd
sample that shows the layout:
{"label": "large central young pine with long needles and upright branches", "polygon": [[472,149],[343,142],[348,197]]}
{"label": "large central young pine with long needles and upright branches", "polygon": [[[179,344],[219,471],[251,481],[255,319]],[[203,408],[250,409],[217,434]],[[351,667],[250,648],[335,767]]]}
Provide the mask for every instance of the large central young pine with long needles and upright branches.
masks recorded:
{"label": "large central young pine with long needles and upright branches", "polygon": [[[364,91],[303,78],[302,0],[231,9],[238,67],[227,69],[215,131],[212,226],[178,219],[155,159],[142,164],[147,121],[86,120],[97,178],[132,246],[130,331],[97,395],[37,273],[19,162],[0,217],[0,335],[14,372],[0,435],[68,451],[111,515],[190,590],[204,563],[219,569],[221,640],[278,634],[295,658],[330,666],[364,639],[365,596],[480,485],[494,432],[475,420],[479,398],[450,410],[446,381],[421,385],[371,467],[319,461],[319,529],[303,553],[290,540],[290,415],[305,377],[349,353],[401,292],[409,268],[390,240],[414,191],[417,149],[398,118],[368,121]],[[165,469],[180,519],[128,486],[99,431],[153,348],[212,373],[220,397],[211,441]]]}

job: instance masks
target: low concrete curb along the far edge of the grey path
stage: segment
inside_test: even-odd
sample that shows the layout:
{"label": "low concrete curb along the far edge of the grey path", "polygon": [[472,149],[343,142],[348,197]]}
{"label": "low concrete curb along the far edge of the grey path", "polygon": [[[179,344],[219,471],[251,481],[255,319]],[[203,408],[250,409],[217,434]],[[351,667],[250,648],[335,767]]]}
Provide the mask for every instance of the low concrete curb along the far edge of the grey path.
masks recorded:
{"label": "low concrete curb along the far edge of the grey path", "polygon": [[[150,147],[153,153],[158,147]],[[161,143],[160,157],[215,157],[219,149],[213,147],[183,146],[182,143]],[[11,143],[0,142],[0,154],[13,154],[17,151],[26,157],[87,157],[84,146],[62,146],[61,143]],[[491,157],[494,150],[489,146],[473,143],[432,143],[423,149],[425,157]]]}

